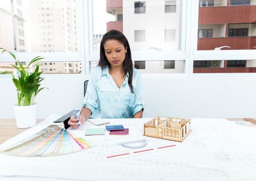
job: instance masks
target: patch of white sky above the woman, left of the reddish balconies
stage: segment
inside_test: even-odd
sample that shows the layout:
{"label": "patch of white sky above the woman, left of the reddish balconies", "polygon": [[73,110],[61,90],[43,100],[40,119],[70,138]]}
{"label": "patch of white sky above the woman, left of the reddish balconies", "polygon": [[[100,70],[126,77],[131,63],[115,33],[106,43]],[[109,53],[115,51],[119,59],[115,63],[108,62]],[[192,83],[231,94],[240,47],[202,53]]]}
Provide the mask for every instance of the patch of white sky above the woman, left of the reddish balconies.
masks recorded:
{"label": "patch of white sky above the woman, left of the reddish balconies", "polygon": [[93,0],[94,34],[105,34],[107,32],[106,23],[110,21],[115,21],[115,16],[107,13],[106,0]]}

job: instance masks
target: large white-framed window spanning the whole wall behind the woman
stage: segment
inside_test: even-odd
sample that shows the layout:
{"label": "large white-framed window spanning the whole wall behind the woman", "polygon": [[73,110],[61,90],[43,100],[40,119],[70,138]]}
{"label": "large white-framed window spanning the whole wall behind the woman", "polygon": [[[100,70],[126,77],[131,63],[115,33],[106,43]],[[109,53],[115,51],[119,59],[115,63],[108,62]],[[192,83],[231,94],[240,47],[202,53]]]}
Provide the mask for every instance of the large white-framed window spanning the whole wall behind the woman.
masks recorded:
{"label": "large white-framed window spanning the whole wall behind the woman", "polygon": [[[0,4],[5,9],[0,11],[0,47],[22,62],[34,58],[30,53],[45,57],[45,73],[89,74],[98,64],[103,35],[117,29],[128,39],[141,73],[187,76],[256,70],[254,1],[54,2]],[[0,71],[6,67],[3,62],[10,61],[5,57],[0,56]]]}

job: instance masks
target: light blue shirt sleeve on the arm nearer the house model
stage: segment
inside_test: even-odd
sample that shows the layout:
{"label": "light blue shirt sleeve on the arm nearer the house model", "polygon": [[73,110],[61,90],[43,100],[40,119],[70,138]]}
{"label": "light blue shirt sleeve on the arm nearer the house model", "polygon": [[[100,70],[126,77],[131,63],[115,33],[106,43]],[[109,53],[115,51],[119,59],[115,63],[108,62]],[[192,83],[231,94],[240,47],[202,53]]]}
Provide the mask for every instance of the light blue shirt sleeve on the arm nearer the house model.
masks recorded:
{"label": "light blue shirt sleeve on the arm nearer the house model", "polygon": [[142,76],[138,74],[137,83],[135,87],[135,101],[133,115],[135,115],[140,110],[144,110],[143,94],[142,94]]}

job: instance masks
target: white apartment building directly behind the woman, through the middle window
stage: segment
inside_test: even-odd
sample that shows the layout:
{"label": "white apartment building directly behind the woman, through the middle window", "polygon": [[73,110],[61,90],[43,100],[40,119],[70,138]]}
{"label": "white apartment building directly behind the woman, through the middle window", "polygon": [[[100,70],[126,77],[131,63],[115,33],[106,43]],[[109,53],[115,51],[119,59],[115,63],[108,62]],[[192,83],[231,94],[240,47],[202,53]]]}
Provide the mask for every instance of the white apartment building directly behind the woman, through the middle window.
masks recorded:
{"label": "white apartment building directly behind the woman, through the middle window", "polygon": [[[122,9],[108,10],[116,21],[122,15],[123,33],[132,51],[180,50],[180,0],[123,0]],[[183,73],[183,61],[136,61],[141,73]]]}

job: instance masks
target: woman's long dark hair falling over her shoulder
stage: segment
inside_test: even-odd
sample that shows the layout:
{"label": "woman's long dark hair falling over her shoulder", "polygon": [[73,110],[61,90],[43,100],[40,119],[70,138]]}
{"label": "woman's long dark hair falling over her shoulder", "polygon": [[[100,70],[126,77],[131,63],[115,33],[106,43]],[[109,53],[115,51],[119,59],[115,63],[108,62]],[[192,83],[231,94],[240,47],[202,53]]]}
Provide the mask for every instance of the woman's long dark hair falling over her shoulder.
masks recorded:
{"label": "woman's long dark hair falling over her shoulder", "polygon": [[131,92],[135,93],[134,88],[132,86],[132,75],[133,75],[132,53],[131,53],[128,40],[123,33],[117,30],[110,30],[103,36],[101,40],[100,60],[99,60],[98,66],[101,66],[102,71],[106,68],[106,66],[110,67],[110,63],[108,62],[108,59],[105,55],[105,49],[104,49],[104,44],[107,40],[117,40],[118,42],[124,45],[124,48],[127,47],[127,52],[125,54],[125,58],[123,62],[124,76],[126,76],[127,73],[129,73],[128,84],[130,86]]}

